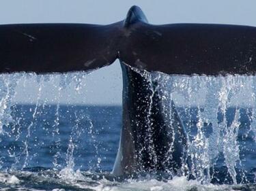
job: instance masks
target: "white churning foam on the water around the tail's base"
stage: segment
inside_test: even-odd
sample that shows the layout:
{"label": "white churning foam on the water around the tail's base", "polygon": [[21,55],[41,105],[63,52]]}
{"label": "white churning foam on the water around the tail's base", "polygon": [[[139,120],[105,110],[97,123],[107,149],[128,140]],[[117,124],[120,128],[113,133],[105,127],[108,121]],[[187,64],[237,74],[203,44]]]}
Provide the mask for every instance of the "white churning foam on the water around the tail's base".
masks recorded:
{"label": "white churning foam on the water around the tail's base", "polygon": [[[46,184],[55,184],[59,186],[52,188],[52,191],[63,191],[63,186],[70,186],[72,188],[79,189],[89,189],[96,191],[141,191],[141,190],[150,190],[150,191],[188,191],[188,190],[197,190],[197,191],[233,191],[233,186],[230,185],[213,185],[213,184],[201,184],[200,181],[196,180],[187,180],[186,177],[173,177],[171,180],[158,181],[157,179],[126,179],[126,181],[109,181],[108,179],[91,179],[89,172],[73,171],[72,169],[63,169],[62,171],[55,171],[57,173],[52,176],[52,172],[48,175],[47,172],[41,173],[31,173],[27,171],[19,172],[21,177],[30,180],[36,180],[39,182],[46,182]],[[8,173],[0,173],[0,183],[3,184],[15,184],[17,190],[37,190],[35,188],[24,188],[21,185],[18,185],[21,181],[18,180],[14,175],[9,175]],[[36,184],[36,182],[35,182]],[[242,185],[236,185],[236,190],[243,189]],[[5,186],[13,188],[12,185]],[[29,186],[30,187],[30,186]],[[251,190],[254,190],[252,187]],[[3,188],[1,188],[3,189]]]}

